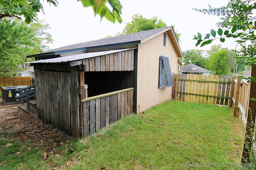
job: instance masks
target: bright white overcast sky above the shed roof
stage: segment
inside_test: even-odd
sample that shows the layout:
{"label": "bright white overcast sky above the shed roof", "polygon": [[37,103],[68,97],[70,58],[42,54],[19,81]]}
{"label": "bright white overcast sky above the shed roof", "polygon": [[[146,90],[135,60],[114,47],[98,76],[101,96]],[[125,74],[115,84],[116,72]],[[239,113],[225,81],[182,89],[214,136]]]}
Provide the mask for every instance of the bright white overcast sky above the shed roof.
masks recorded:
{"label": "bright white overcast sky above the shed roof", "polygon": [[[175,25],[175,30],[181,33],[180,48],[182,51],[190,49],[208,50],[212,44],[220,44],[219,39],[204,47],[195,47],[194,35],[200,32],[202,35],[210,33],[211,29],[217,30],[216,23],[220,17],[202,14],[192,8],[221,7],[228,4],[228,0],[120,0],[123,6],[122,20],[120,24],[112,23],[105,18],[100,22],[100,17],[94,17],[91,7],[84,8],[77,0],[59,0],[58,7],[44,1],[44,12],[38,13],[39,20],[49,23],[54,42],[49,45],[50,49],[63,47],[75,43],[97,40],[108,35],[116,35],[124,29],[126,23],[132,20],[134,14],[141,14],[144,18],[153,16],[162,19],[168,26]],[[230,48],[234,44],[232,39],[226,39],[222,47]]]}

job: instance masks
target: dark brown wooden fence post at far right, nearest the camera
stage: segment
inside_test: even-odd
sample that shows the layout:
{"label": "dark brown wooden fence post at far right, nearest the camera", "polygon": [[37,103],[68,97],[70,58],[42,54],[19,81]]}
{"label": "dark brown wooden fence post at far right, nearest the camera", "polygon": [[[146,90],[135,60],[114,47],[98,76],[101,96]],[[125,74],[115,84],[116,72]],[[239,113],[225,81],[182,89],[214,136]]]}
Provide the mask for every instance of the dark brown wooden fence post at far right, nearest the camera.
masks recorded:
{"label": "dark brown wooden fence post at far right, nearest the camera", "polygon": [[[256,77],[256,66],[255,64],[252,65],[252,77]],[[251,81],[250,86],[250,99],[256,98],[256,81]],[[250,139],[250,137],[254,134],[254,126],[255,126],[255,114],[256,114],[256,101],[249,100],[249,111],[248,116],[246,120],[246,131],[245,131],[245,137],[244,137],[244,145],[243,145],[243,151],[242,151],[242,163],[247,163],[246,160],[250,159],[251,150],[252,150],[252,143],[253,141]],[[252,120],[251,120],[252,118]],[[253,129],[253,130],[251,130]],[[248,145],[247,145],[248,144]]]}

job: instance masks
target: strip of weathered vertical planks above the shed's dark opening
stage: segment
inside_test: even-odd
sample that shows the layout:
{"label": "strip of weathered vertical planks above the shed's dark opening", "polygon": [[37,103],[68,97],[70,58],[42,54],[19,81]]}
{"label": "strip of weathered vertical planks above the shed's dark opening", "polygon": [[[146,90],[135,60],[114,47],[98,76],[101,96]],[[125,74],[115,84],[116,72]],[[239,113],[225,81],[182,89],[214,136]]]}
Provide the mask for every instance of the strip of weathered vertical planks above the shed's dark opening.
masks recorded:
{"label": "strip of weathered vertical planks above the shed's dark opening", "polygon": [[134,70],[134,49],[84,59],[87,71],[132,71]]}

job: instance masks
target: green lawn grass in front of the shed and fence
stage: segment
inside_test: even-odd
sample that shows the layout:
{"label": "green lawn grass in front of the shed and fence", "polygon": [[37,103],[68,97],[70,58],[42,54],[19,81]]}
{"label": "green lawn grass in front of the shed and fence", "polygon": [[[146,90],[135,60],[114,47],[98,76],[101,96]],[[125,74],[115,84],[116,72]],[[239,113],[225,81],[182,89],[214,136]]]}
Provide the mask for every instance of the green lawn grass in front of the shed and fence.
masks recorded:
{"label": "green lawn grass in front of the shed and fence", "polygon": [[[242,125],[231,111],[229,107],[164,102],[146,110],[143,118],[130,115],[98,135],[68,141],[58,148],[61,154],[53,153],[48,160],[42,160],[44,151],[33,150],[33,156],[24,149],[24,155],[14,157],[2,156],[0,148],[0,162],[6,160],[0,169],[17,169],[22,161],[23,169],[227,169],[224,165],[240,163],[242,151]],[[23,160],[17,165],[12,163],[20,157]],[[232,168],[236,167],[228,167]]]}

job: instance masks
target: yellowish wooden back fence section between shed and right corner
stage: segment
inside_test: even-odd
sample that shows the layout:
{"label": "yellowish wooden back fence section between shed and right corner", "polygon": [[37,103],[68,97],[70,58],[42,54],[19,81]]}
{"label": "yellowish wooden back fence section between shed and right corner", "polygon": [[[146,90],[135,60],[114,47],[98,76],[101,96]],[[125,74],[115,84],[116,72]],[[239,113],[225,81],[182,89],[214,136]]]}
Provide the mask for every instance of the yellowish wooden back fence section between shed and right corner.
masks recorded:
{"label": "yellowish wooden back fence section between shed and right corner", "polygon": [[228,106],[231,78],[231,76],[179,74],[177,99]]}

